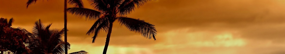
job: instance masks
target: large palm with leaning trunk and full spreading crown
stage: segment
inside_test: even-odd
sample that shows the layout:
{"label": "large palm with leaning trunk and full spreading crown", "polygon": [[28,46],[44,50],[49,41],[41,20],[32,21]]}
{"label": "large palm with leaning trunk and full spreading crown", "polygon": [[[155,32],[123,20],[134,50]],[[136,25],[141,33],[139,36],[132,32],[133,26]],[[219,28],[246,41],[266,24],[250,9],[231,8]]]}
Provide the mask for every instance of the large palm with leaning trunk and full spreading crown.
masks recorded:
{"label": "large palm with leaning trunk and full spreading crown", "polygon": [[[76,16],[85,16],[86,19],[96,20],[88,35],[95,34],[92,38],[94,43],[100,30],[108,32],[106,38],[106,44],[103,50],[103,54],[106,54],[112,32],[113,22],[118,20],[121,25],[126,26],[130,31],[142,34],[143,37],[153,38],[156,40],[156,29],[154,25],[145,22],[144,20],[133,19],[124,17],[129,14],[136,7],[142,6],[144,3],[151,0],[89,0],[91,5],[96,9],[73,7],[68,8],[69,13]],[[86,35],[87,35],[86,34]]]}

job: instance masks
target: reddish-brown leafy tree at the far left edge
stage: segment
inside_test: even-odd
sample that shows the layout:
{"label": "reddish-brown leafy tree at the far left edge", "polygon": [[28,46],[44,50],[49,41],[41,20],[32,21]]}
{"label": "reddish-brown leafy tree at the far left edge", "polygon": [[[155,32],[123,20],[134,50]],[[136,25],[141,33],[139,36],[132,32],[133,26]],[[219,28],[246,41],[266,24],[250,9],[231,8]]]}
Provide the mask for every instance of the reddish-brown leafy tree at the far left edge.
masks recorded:
{"label": "reddish-brown leafy tree at the far left edge", "polygon": [[26,30],[20,27],[12,28],[13,18],[0,18],[0,54],[29,54],[29,49],[25,47],[25,43],[29,38]]}

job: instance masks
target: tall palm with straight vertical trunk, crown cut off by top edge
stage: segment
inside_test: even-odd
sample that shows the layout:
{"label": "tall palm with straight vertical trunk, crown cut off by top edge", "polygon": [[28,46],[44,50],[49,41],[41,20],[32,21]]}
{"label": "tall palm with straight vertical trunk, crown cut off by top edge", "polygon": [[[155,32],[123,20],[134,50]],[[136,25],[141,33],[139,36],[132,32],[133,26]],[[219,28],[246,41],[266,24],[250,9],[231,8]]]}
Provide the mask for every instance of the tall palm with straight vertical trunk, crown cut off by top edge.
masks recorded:
{"label": "tall palm with straight vertical trunk, crown cut off by top edge", "polygon": [[[29,0],[27,2],[27,8],[31,4],[35,4],[39,0]],[[81,0],[69,0],[69,4],[74,5],[75,7],[83,8],[83,2]],[[67,0],[64,0],[64,41],[67,42],[67,13],[66,13],[66,8],[67,8]],[[65,43],[65,49],[67,47],[67,43]],[[65,54],[67,54],[67,50],[65,50]]]}

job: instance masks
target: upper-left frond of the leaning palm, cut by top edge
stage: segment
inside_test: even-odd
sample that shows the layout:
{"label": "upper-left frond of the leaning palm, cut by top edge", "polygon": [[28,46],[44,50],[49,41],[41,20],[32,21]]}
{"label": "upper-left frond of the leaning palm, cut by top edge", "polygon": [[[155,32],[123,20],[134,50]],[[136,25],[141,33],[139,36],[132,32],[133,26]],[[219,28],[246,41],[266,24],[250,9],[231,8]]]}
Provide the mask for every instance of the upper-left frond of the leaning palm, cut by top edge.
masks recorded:
{"label": "upper-left frond of the leaning palm, cut by top edge", "polygon": [[91,5],[97,9],[97,10],[100,10],[102,12],[105,12],[108,9],[109,5],[107,4],[107,0],[88,0],[89,3],[91,3]]}

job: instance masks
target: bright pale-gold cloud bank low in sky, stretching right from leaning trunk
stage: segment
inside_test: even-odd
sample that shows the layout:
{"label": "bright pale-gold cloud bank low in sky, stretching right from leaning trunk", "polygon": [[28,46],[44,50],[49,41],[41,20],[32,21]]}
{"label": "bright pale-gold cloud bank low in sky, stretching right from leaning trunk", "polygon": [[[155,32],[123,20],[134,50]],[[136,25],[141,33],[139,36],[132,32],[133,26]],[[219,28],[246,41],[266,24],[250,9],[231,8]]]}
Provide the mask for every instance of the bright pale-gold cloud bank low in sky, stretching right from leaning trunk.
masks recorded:
{"label": "bright pale-gold cloud bank low in sky, stretching right from leaning trunk", "polygon": [[[191,29],[178,29],[169,32],[164,32],[161,34],[163,35],[159,35],[157,41],[152,41],[142,37],[138,37],[139,35],[111,37],[111,41],[109,43],[110,51],[108,51],[108,53],[144,54],[144,52],[146,53],[148,52],[151,54],[173,54],[173,53],[233,54],[238,52],[235,50],[238,50],[238,48],[246,46],[247,44],[246,40],[244,40],[243,38],[239,38],[238,36],[228,32],[210,32],[210,31],[192,32]],[[74,39],[80,39],[80,38],[74,37]],[[74,40],[74,39],[71,38],[69,40]],[[103,49],[104,45],[102,44],[105,43],[105,38],[99,38],[96,40],[95,44],[88,44],[88,45],[76,41],[79,40],[71,41],[72,45],[80,45],[80,47],[75,47],[75,49],[86,48],[85,46],[88,46],[87,48],[94,48],[92,50],[96,50],[96,52],[93,53],[97,53],[98,51],[97,49]],[[82,47],[82,45],[85,46]],[[118,50],[119,52],[117,52]],[[102,50],[99,50],[98,52],[101,51]]]}

